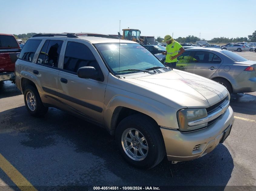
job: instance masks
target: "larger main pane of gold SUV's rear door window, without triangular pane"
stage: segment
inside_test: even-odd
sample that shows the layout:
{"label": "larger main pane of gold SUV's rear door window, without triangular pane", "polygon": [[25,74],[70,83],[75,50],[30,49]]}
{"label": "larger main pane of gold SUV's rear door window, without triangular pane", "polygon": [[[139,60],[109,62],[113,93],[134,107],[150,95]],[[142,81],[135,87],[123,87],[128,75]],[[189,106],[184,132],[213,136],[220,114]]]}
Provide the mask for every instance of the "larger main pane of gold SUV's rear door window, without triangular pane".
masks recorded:
{"label": "larger main pane of gold SUV's rear door window, without triangular pane", "polygon": [[44,65],[58,67],[62,40],[50,40],[45,54]]}

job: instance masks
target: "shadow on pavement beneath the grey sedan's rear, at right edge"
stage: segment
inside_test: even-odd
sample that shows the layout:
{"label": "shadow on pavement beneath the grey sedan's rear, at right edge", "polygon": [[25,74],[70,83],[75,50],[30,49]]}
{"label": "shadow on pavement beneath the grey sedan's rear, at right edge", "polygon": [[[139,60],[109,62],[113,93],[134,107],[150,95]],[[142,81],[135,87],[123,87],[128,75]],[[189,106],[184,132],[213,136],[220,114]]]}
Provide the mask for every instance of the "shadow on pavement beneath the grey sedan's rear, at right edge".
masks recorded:
{"label": "shadow on pavement beneath the grey sedan's rear, at right edge", "polygon": [[256,115],[256,96],[251,94],[231,94],[230,106],[236,113]]}

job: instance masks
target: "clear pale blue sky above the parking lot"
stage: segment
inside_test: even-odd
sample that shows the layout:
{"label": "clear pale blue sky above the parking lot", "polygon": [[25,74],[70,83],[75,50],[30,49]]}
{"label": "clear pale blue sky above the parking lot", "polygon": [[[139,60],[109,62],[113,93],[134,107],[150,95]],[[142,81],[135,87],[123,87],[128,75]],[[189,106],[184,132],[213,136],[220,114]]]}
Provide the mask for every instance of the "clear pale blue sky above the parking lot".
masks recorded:
{"label": "clear pale blue sky above the parking lot", "polygon": [[[255,0],[0,0],[0,33],[141,30],[142,36],[248,37],[256,30]],[[201,33],[201,36],[200,36]]]}

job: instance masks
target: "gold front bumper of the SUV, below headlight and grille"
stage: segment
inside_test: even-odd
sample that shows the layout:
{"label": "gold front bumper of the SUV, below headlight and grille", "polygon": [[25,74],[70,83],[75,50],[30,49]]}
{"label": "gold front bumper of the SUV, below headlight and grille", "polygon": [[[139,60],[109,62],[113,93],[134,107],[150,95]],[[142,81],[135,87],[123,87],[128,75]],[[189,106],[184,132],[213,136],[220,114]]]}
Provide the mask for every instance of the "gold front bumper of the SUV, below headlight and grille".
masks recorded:
{"label": "gold front bumper of the SUV, below headlight and grille", "polygon": [[220,141],[224,131],[234,122],[234,112],[229,106],[226,112],[205,129],[180,132],[161,127],[169,161],[190,161],[211,152]]}

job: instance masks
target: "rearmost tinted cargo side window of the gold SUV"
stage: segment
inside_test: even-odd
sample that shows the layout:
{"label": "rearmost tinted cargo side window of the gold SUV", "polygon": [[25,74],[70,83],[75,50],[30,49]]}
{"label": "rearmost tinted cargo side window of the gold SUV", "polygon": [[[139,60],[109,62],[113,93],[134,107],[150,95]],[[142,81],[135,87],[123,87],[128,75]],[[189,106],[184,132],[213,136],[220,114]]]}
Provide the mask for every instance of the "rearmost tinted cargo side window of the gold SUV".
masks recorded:
{"label": "rearmost tinted cargo side window of the gold SUV", "polygon": [[23,59],[23,60],[32,62],[32,59],[36,52],[36,49],[38,48],[41,41],[42,40],[28,40],[21,50],[19,59]]}

